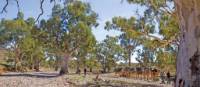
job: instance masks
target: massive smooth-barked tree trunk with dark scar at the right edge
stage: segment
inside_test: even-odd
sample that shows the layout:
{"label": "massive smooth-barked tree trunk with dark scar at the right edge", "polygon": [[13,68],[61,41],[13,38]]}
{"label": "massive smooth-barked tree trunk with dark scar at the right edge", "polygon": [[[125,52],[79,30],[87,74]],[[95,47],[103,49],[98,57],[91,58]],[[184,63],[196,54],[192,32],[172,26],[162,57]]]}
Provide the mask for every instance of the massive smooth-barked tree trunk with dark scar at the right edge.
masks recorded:
{"label": "massive smooth-barked tree trunk with dark scar at the right edge", "polygon": [[176,87],[200,86],[200,0],[175,0],[181,29]]}

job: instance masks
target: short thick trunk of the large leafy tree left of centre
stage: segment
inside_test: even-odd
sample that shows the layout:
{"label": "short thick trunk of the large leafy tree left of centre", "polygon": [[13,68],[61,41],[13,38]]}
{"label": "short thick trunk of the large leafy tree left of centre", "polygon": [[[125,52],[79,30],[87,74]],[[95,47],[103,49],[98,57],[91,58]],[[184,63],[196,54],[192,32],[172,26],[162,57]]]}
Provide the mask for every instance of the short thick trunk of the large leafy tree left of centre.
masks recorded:
{"label": "short thick trunk of the large leafy tree left of centre", "polygon": [[60,69],[60,75],[63,74],[67,74],[68,71],[68,60],[69,60],[69,55],[65,55],[64,57],[62,57],[62,61],[61,61],[61,69]]}

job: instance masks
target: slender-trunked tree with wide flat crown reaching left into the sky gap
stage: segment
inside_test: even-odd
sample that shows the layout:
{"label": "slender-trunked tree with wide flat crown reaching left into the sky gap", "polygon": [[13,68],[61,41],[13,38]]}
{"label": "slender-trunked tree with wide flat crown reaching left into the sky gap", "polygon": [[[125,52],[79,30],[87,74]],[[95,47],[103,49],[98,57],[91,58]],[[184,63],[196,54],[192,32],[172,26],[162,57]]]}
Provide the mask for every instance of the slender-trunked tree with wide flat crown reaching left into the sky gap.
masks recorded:
{"label": "slender-trunked tree with wide flat crown reaching left into the sky gap", "polygon": [[155,25],[146,23],[144,19],[114,17],[111,22],[106,23],[106,29],[114,29],[122,32],[120,36],[121,45],[128,52],[129,66],[131,65],[132,53],[136,51],[137,46],[146,48],[150,48],[151,46],[152,49],[156,49],[155,45],[157,43],[154,43],[151,39],[151,37],[154,37],[151,34],[155,32]]}

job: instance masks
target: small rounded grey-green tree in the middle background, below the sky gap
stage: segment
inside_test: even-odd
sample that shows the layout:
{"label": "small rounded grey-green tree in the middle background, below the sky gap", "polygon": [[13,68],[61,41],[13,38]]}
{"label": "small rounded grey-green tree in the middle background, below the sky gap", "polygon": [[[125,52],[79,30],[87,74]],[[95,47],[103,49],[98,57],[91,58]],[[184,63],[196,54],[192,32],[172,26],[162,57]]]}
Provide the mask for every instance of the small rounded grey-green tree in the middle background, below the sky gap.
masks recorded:
{"label": "small rounded grey-green tree in the middle background, below the sky gap", "polygon": [[103,42],[97,44],[97,58],[102,64],[103,72],[109,72],[123,59],[123,48],[117,42],[117,37],[107,36]]}

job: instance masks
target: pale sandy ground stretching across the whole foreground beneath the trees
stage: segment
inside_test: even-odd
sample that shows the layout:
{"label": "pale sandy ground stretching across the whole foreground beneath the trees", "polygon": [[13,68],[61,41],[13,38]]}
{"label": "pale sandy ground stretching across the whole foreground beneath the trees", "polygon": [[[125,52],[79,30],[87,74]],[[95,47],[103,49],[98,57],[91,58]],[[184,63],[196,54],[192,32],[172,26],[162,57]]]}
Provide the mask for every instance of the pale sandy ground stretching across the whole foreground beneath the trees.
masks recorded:
{"label": "pale sandy ground stretching across the whole foreground beneath the trees", "polygon": [[58,76],[56,72],[9,72],[0,76],[0,87],[172,87],[160,82],[112,77],[112,74],[100,75],[101,81],[94,81],[95,77],[82,74]]}

